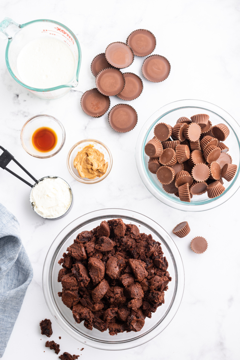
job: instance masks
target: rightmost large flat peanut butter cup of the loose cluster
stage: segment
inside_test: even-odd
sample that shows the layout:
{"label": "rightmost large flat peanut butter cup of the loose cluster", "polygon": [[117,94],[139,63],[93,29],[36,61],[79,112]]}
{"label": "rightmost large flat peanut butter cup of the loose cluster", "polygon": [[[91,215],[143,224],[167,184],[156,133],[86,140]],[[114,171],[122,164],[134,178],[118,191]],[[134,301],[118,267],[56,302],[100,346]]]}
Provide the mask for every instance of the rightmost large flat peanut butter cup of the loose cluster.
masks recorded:
{"label": "rightmost large flat peanut butter cup of the loose cluster", "polygon": [[142,64],[142,75],[151,82],[161,82],[169,76],[171,65],[162,55],[150,55]]}

